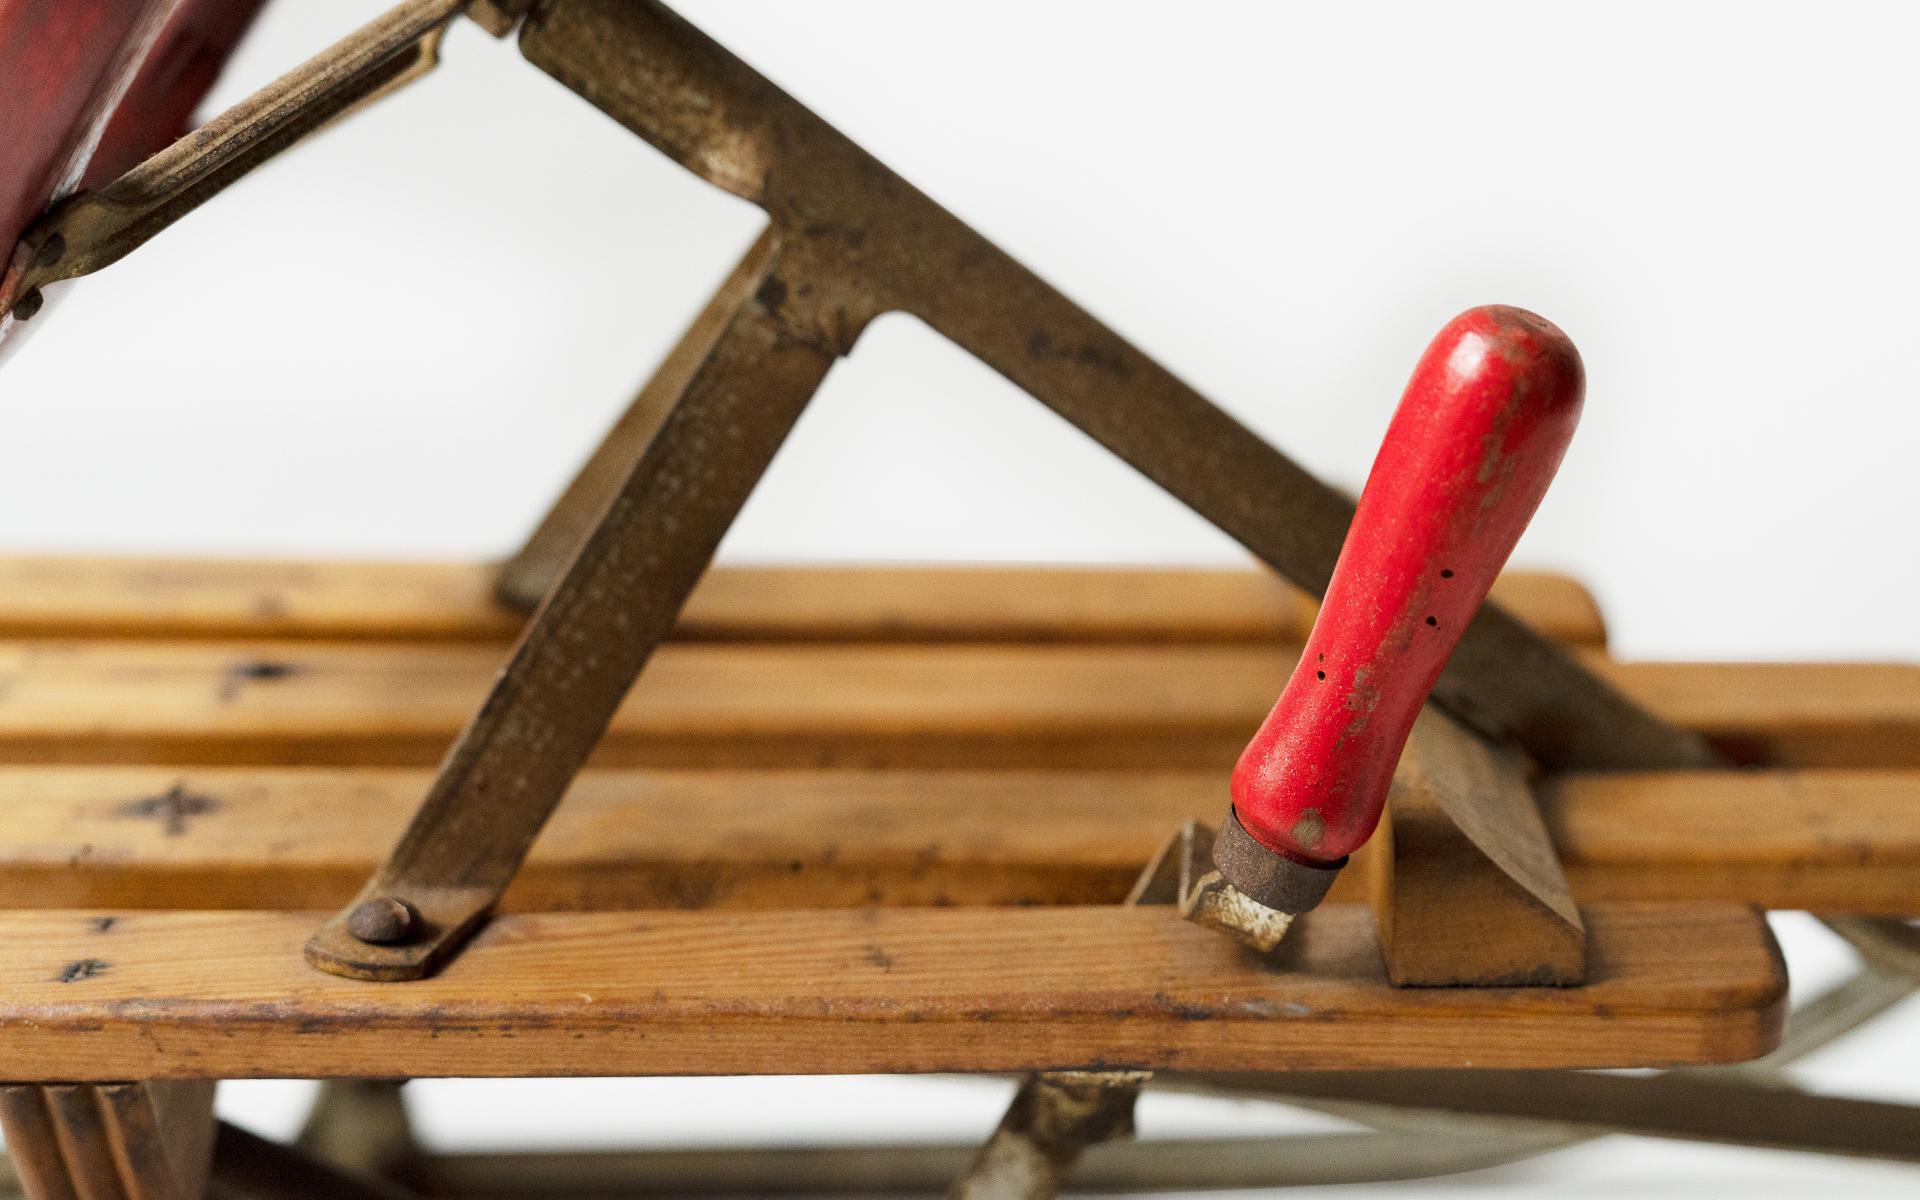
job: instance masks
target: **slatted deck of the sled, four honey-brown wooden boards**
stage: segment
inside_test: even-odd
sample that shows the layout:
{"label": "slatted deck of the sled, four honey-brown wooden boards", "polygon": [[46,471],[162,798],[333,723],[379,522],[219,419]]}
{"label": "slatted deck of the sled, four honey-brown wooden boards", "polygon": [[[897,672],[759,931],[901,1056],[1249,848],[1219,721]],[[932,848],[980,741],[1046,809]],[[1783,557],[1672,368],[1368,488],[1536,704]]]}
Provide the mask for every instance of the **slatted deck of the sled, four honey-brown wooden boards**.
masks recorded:
{"label": "slatted deck of the sled, four honey-brown wooden boards", "polygon": [[1256,572],[722,566],[459,960],[313,972],[499,664],[484,578],[0,564],[13,1079],[1728,1062],[1780,1031],[1755,904],[1920,908],[1920,672],[1611,664],[1578,586],[1515,576],[1523,618],[1772,764],[1538,785],[1582,987],[1392,987],[1367,872],[1261,962],[1119,900],[1221,810],[1311,605]]}

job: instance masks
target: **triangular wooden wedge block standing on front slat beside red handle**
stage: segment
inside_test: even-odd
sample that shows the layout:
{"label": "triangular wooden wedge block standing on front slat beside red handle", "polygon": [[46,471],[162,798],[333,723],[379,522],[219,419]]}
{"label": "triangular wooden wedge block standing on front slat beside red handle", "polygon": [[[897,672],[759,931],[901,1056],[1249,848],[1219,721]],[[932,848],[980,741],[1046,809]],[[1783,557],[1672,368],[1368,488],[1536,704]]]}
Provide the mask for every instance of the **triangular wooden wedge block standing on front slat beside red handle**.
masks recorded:
{"label": "triangular wooden wedge block standing on front slat beside red handle", "polygon": [[1517,753],[1427,708],[1371,851],[1373,920],[1396,985],[1586,977],[1586,927]]}

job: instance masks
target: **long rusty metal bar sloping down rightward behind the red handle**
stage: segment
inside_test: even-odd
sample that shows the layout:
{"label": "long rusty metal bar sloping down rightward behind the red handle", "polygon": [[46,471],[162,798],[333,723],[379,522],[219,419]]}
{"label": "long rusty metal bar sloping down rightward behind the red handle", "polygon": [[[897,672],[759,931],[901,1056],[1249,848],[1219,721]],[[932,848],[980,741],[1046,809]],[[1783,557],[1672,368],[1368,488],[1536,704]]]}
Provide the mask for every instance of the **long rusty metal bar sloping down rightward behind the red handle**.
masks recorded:
{"label": "long rusty metal bar sloping down rightward behind the red handle", "polygon": [[[545,0],[526,58],[708,182],[764,207],[791,294],[902,309],[1321,595],[1352,503],[660,4]],[[1496,607],[1434,699],[1551,768],[1718,756]]]}

